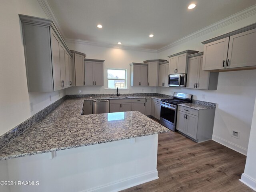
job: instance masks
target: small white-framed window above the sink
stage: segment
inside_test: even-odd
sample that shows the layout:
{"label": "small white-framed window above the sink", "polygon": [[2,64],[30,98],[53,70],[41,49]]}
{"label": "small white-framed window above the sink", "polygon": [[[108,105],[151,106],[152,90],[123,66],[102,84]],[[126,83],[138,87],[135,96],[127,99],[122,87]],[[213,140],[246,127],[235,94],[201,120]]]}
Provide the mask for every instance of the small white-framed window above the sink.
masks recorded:
{"label": "small white-framed window above the sink", "polygon": [[108,88],[126,88],[126,69],[107,69]]}

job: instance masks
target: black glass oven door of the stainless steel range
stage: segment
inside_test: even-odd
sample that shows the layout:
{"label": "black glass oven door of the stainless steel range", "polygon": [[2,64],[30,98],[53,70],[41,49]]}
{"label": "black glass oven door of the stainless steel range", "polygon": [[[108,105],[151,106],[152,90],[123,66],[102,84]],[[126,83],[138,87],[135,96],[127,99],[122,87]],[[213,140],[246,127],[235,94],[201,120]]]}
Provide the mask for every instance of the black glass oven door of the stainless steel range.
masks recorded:
{"label": "black glass oven door of the stainless steel range", "polygon": [[172,124],[173,126],[176,126],[176,116],[177,116],[176,108],[168,108],[161,105],[160,119]]}

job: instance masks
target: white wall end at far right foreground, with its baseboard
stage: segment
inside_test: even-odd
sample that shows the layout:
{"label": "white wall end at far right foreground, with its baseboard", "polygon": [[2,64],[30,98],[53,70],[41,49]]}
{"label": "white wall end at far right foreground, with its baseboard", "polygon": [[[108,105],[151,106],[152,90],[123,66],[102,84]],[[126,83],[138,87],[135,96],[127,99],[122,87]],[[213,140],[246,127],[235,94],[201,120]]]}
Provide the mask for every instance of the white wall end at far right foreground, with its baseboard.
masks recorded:
{"label": "white wall end at far right foreground, with its baseboard", "polygon": [[254,104],[254,112],[252,117],[252,126],[251,126],[251,134],[249,139],[248,145],[248,153],[246,158],[246,164],[244,173],[242,174],[242,181],[244,184],[248,185],[249,187],[253,188],[256,191],[256,98]]}

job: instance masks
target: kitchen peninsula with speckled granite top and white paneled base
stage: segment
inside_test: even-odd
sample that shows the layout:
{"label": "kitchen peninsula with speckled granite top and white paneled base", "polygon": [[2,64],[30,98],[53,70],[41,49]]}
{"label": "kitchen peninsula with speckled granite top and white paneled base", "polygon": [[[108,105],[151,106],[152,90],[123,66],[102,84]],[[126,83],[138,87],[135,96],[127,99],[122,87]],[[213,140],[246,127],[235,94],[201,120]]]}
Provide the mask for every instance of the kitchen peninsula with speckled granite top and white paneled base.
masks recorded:
{"label": "kitchen peninsula with speckled granite top and white paneled base", "polygon": [[[158,135],[169,130],[137,111],[81,115],[68,98],[0,150],[11,191],[112,191],[158,178]],[[4,169],[2,169],[4,167]]]}

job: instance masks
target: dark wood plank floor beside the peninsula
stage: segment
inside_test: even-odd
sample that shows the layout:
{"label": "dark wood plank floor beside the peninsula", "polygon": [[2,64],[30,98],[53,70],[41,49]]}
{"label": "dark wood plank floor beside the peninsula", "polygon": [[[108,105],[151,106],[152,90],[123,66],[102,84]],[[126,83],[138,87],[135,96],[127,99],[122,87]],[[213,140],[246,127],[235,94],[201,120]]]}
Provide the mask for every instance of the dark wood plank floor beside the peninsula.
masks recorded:
{"label": "dark wood plank floor beside the peninsula", "polygon": [[254,192],[238,179],[246,156],[214,141],[196,143],[177,132],[158,135],[159,179],[122,192]]}

